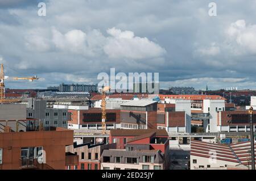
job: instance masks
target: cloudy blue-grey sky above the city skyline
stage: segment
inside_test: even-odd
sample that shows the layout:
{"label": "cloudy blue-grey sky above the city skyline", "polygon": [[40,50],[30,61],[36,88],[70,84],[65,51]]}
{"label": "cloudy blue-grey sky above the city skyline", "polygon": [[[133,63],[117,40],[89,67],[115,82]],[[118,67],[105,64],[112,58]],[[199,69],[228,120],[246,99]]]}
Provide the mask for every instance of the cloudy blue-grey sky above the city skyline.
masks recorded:
{"label": "cloudy blue-grey sky above the city skyline", "polygon": [[162,89],[256,89],[256,0],[0,0],[0,62],[40,77],[13,89],[98,83],[110,68],[159,73]]}

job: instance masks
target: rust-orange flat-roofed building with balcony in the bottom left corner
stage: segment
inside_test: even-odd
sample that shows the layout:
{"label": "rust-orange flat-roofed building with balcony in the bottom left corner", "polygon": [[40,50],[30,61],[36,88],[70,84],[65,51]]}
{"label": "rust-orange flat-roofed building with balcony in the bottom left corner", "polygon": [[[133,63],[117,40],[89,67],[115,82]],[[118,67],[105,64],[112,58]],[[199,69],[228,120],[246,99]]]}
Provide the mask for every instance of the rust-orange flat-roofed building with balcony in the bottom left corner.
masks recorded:
{"label": "rust-orange flat-roofed building with balcony in the bottom left corner", "polygon": [[[73,131],[52,128],[51,131],[0,133],[0,170],[58,169],[78,162],[76,156],[65,156],[65,146],[73,144]],[[43,150],[45,163],[38,161]]]}

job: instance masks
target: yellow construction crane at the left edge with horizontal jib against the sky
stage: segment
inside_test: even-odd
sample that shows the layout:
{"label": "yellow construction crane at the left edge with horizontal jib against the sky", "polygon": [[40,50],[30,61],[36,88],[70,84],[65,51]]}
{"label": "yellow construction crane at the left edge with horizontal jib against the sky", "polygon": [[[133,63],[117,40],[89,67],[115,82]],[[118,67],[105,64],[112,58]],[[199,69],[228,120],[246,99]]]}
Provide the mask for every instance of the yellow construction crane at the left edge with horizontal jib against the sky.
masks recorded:
{"label": "yellow construction crane at the left edge with horizontal jib against the sky", "polygon": [[[5,79],[9,78],[9,76],[5,76],[5,72],[3,70],[3,64],[1,64],[0,71],[0,103],[13,103],[19,102],[19,99],[6,99],[5,98]],[[33,82],[34,80],[38,80],[39,78],[34,77],[13,77],[14,80],[28,80]]]}

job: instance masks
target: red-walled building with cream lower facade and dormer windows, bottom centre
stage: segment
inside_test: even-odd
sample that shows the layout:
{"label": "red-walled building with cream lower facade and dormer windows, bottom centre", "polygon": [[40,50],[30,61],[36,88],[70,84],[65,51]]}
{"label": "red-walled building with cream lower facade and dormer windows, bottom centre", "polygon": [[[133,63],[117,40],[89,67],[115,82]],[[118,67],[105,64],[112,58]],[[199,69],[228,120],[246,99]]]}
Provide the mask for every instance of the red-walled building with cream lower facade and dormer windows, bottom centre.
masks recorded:
{"label": "red-walled building with cream lower facade and dormer windows, bottom centre", "polygon": [[111,130],[110,142],[117,149],[104,150],[102,169],[162,170],[170,166],[170,148],[166,130]]}

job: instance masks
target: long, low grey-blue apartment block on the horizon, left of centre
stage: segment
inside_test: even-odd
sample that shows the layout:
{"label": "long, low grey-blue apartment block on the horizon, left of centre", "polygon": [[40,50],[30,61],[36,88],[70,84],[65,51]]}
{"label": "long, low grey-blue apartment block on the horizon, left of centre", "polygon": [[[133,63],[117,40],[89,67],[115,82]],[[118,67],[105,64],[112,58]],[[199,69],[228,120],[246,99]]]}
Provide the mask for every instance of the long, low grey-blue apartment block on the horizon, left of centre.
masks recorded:
{"label": "long, low grey-blue apartment block on the horizon, left of centre", "polygon": [[98,85],[64,84],[60,85],[60,92],[97,92]]}

